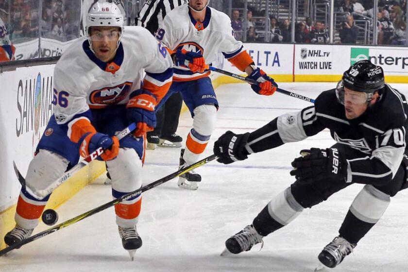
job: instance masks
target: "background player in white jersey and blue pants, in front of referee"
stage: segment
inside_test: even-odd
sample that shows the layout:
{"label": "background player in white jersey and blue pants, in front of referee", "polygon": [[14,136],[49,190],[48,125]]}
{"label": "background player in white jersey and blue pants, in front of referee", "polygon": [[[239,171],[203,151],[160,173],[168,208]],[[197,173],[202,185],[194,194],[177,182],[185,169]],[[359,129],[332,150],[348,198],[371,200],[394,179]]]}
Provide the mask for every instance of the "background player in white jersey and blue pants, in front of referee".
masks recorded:
{"label": "background player in white jersey and blue pants, in front of referee", "polygon": [[[251,85],[256,93],[272,95],[277,87],[264,71],[255,68],[242,43],[235,39],[230,18],[208,7],[208,2],[189,0],[188,5],[174,8],[156,33],[156,38],[169,48],[175,62],[173,83],[157,108],[171,94],[181,92],[193,117],[186,148],[181,151],[180,168],[198,160],[214,131],[219,105],[208,77],[207,64],[215,60],[219,51],[249,78],[259,82],[259,85]],[[199,181],[201,176],[189,171],[180,176],[178,186],[195,190]]]}

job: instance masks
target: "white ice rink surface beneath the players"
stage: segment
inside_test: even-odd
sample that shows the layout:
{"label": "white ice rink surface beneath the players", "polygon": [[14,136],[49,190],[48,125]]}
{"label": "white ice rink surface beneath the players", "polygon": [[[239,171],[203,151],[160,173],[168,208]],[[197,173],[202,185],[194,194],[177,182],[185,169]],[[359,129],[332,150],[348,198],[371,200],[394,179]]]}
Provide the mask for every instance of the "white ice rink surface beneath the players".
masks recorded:
{"label": "white ice rink surface beneath the players", "polygon": [[[316,98],[335,83],[282,83],[281,88]],[[404,94],[408,85],[391,84]],[[218,123],[204,152],[212,154],[214,141],[225,131],[253,131],[278,115],[296,112],[310,103],[276,93],[256,95],[249,85],[222,85]],[[182,114],[178,134],[186,139],[191,128],[189,112]],[[290,162],[299,151],[329,147],[329,132],[302,142],[252,154],[228,166],[215,161],[196,171],[203,177],[197,191],[177,187],[171,180],[143,194],[138,232],[143,246],[135,261],[122,248],[114,209],[109,208],[0,258],[1,272],[311,272],[317,255],[338,235],[338,229],[362,185],[352,185],[326,202],[304,212],[288,226],[264,238],[264,247],[234,256],[220,256],[224,242],[251,223],[258,212],[294,179]],[[146,154],[144,184],[177,170],[180,149],[156,148]],[[59,222],[75,217],[112,199],[110,186],[96,184],[57,209]],[[17,179],[16,181],[17,182]],[[46,229],[40,223],[35,233]],[[333,271],[407,271],[408,190],[392,198],[388,210],[354,255]],[[326,269],[325,271],[329,271]]]}

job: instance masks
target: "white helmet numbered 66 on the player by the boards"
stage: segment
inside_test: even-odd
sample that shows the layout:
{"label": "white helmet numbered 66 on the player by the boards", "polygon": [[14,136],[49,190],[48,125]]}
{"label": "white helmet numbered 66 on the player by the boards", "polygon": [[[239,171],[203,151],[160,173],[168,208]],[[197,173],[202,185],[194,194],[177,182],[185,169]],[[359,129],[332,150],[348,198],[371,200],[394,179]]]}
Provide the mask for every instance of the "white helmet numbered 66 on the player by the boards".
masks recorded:
{"label": "white helmet numbered 66 on the player by the boards", "polygon": [[120,28],[120,36],[118,40],[118,46],[120,38],[124,32],[123,15],[120,12],[119,7],[110,2],[96,2],[88,11],[86,16],[86,28],[85,33],[88,36],[89,45],[92,50],[92,41],[89,36],[89,28],[93,26],[111,26]]}

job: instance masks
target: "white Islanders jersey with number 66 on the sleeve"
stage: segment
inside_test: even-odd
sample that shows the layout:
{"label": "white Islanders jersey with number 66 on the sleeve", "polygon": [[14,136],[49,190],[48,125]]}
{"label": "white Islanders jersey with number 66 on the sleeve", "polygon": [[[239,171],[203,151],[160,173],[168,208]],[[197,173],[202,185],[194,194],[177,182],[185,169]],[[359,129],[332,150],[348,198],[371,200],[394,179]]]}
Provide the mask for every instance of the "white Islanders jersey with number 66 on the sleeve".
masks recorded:
{"label": "white Islanders jersey with number 66 on the sleeve", "polygon": [[160,101],[171,78],[169,52],[142,27],[125,27],[110,63],[99,60],[87,38],[80,38],[64,52],[54,69],[55,119],[60,125],[68,125],[68,137],[76,142],[86,131],[84,127],[89,126],[90,108],[108,110],[111,105],[126,104],[130,93],[141,86]]}

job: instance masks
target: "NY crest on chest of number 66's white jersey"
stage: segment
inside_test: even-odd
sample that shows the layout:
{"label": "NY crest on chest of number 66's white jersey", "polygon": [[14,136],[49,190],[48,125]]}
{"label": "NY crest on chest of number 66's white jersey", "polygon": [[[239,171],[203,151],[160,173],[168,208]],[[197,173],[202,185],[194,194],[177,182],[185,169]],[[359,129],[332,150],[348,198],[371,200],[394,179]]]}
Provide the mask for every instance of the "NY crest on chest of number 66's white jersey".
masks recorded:
{"label": "NY crest on chest of number 66's white jersey", "polygon": [[113,87],[104,87],[89,94],[89,102],[100,105],[113,105],[124,100],[132,88],[132,82],[125,82]]}

